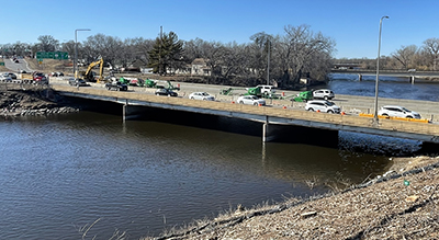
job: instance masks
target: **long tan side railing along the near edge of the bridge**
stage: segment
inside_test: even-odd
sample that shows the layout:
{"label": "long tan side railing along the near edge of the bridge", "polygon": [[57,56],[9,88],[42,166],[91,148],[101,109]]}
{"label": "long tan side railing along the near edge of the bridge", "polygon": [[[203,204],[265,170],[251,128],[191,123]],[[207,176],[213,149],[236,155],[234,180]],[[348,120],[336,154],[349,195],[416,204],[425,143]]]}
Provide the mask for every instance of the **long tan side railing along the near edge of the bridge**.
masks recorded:
{"label": "long tan side railing along the near edge of the bridge", "polygon": [[[90,95],[100,95],[105,98],[112,98],[119,102],[121,100],[134,100],[143,101],[149,103],[159,103],[164,105],[176,105],[184,107],[199,107],[212,111],[227,111],[235,113],[249,114],[255,116],[266,116],[266,117],[280,117],[283,119],[291,119],[292,122],[300,122],[302,126],[307,124],[316,125],[316,123],[322,123],[323,128],[339,128],[344,127],[364,127],[364,128],[376,128],[390,132],[404,132],[419,135],[437,136],[439,137],[439,125],[437,124],[424,124],[424,123],[413,123],[403,121],[392,121],[392,119],[380,119],[379,125],[375,125],[373,118],[360,117],[358,115],[340,115],[340,114],[327,114],[327,113],[316,113],[307,112],[303,110],[292,110],[272,106],[252,106],[243,105],[232,102],[211,102],[211,101],[196,101],[182,98],[167,98],[167,96],[156,96],[151,94],[137,93],[137,92],[117,92],[108,91],[104,89],[93,89],[93,88],[74,88],[68,85],[54,85],[56,91],[66,91],[71,93],[81,93]],[[123,101],[122,101],[123,102]]]}

